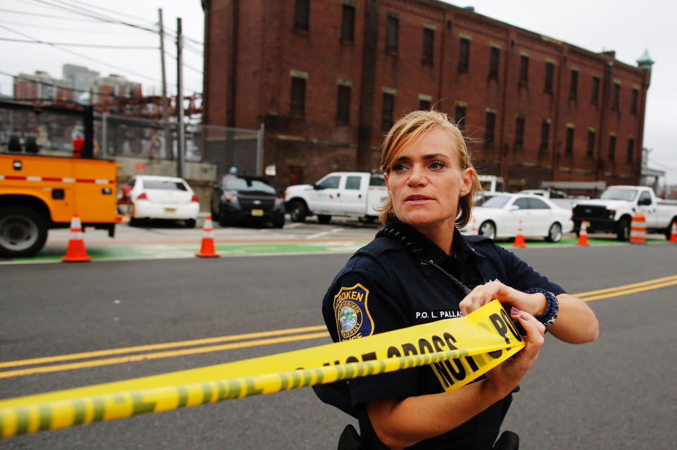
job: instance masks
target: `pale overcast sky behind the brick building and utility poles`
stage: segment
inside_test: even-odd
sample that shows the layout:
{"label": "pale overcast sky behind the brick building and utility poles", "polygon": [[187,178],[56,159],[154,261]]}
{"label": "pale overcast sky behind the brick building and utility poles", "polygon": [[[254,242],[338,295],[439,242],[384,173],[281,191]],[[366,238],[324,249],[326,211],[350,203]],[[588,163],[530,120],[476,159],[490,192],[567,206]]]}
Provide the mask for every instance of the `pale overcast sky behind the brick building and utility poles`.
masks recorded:
{"label": "pale overcast sky behind the brick building and utility poles", "polygon": [[[338,0],[336,0],[338,1]],[[477,13],[554,37],[590,51],[615,50],[623,63],[648,49],[656,61],[647,99],[644,146],[651,149],[649,167],[666,171],[677,184],[677,4],[669,0],[475,0],[456,6],[474,6]],[[312,1],[311,1],[312,4]],[[140,82],[145,94],[161,92],[159,37],[140,27],[154,27],[158,8],[165,29],[176,32],[182,18],[186,37],[184,94],[202,91],[203,16],[200,0],[2,0],[0,38],[40,40],[52,44],[97,44],[142,48],[88,48],[0,41],[0,94],[12,94],[11,75],[44,70],[60,78],[63,63],[85,65],[102,75],[117,73]],[[79,13],[75,12],[78,11]],[[113,19],[87,18],[81,13]],[[176,44],[165,46],[169,92],[176,93]],[[149,47],[154,47],[150,49]]]}

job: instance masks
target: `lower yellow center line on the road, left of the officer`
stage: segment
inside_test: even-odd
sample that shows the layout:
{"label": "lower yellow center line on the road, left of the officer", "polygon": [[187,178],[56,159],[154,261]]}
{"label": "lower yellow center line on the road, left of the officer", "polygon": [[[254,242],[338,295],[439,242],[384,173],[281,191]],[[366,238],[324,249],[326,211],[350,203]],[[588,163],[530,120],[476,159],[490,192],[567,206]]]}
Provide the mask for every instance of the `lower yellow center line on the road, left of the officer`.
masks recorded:
{"label": "lower yellow center line on the road, left of the officer", "polygon": [[244,347],[279,344],[280,342],[303,341],[306,339],[317,339],[319,337],[329,337],[328,332],[310,333],[307,335],[294,335],[287,337],[275,337],[272,339],[259,339],[257,341],[236,342],[234,344],[222,344],[207,347],[200,347],[197,349],[184,349],[175,351],[161,351],[158,353],[140,354],[131,356],[121,356],[119,358],[95,359],[93,361],[81,361],[80,363],[66,363],[58,365],[47,365],[42,367],[34,367],[28,369],[8,370],[0,372],[0,378],[18,377],[21,375],[31,375],[33,373],[49,373],[60,370],[73,370],[87,367],[95,367],[98,365],[111,365],[121,363],[133,363],[135,361],[143,361],[145,359],[160,359],[172,358],[174,356],[195,355],[201,353],[209,353],[210,351],[223,351],[231,349],[241,349]]}

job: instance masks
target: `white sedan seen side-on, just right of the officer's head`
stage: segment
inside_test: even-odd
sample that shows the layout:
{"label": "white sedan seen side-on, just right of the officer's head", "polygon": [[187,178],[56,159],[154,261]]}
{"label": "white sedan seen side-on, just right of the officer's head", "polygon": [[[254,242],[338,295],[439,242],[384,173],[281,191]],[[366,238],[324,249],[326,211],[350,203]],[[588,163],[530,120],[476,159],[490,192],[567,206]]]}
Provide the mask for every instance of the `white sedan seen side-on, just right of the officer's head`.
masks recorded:
{"label": "white sedan seen side-on, just right of the officer's head", "polygon": [[496,194],[472,209],[464,235],[477,233],[490,237],[515,237],[522,221],[523,236],[542,236],[559,242],[573,230],[571,211],[534,194]]}

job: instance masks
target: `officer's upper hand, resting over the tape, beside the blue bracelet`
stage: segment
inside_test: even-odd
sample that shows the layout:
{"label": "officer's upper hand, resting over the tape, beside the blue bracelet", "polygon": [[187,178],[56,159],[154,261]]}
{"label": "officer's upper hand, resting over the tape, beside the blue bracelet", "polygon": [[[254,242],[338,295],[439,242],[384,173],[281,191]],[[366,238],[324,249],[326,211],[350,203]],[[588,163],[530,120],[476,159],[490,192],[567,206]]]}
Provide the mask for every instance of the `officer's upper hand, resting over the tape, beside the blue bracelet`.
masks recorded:
{"label": "officer's upper hand, resting over the tape, beside the blue bracelet", "polygon": [[543,315],[548,308],[548,301],[543,294],[526,294],[499,281],[490,281],[475,287],[470,294],[465,296],[459,307],[463,315],[468,315],[494,299],[499,299],[503,304],[510,304],[520,311],[526,311],[535,316]]}

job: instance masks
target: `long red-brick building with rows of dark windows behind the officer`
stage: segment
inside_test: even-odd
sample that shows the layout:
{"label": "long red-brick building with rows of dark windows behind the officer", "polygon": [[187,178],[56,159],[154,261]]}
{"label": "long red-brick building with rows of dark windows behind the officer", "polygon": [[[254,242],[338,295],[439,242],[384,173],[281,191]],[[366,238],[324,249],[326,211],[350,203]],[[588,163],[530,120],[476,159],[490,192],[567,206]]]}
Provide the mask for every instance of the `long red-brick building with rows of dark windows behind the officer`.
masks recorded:
{"label": "long red-brick building with rows of dark windows behind the officer", "polygon": [[638,67],[436,0],[202,0],[208,125],[265,126],[276,185],[378,167],[403,113],[456,118],[506,188],[640,179]]}

